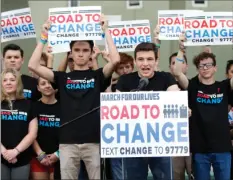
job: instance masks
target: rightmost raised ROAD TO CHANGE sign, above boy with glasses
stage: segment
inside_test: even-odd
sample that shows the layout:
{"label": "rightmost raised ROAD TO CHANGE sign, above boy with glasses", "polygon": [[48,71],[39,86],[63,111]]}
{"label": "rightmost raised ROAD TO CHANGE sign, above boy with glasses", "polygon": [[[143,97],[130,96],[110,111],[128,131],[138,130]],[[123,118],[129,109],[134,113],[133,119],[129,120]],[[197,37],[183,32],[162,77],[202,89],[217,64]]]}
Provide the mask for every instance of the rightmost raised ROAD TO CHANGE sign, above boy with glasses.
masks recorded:
{"label": "rightmost raised ROAD TO CHANGE sign, above boy with glasses", "polygon": [[202,12],[184,18],[185,46],[232,45],[233,12]]}

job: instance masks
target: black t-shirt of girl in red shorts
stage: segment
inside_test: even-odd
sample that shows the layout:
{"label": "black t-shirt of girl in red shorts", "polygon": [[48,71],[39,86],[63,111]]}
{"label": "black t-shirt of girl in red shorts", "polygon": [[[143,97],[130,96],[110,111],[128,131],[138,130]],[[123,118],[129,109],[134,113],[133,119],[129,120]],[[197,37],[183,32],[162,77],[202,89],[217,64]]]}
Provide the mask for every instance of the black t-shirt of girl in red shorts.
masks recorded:
{"label": "black t-shirt of girl in red shorts", "polygon": [[38,119],[37,142],[46,154],[54,153],[59,148],[60,104],[38,101],[34,107]]}

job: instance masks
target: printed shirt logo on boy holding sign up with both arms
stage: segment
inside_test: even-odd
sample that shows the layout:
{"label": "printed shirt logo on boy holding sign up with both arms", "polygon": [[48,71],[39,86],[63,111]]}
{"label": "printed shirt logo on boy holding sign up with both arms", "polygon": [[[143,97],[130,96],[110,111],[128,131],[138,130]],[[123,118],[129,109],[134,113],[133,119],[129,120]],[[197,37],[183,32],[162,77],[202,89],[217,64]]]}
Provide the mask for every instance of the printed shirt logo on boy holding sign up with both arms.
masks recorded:
{"label": "printed shirt logo on boy holding sign up with both arms", "polygon": [[66,81],[67,89],[94,89],[95,79],[82,79],[82,80],[72,80],[69,77]]}

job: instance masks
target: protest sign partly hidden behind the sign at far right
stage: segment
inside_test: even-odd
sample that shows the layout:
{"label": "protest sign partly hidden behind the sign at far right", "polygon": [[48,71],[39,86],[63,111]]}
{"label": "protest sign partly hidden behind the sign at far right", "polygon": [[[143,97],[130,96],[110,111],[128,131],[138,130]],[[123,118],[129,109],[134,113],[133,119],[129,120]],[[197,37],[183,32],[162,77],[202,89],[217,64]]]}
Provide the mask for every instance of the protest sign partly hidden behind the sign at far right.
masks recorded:
{"label": "protest sign partly hidden behind the sign at far right", "polygon": [[158,25],[160,26],[160,40],[178,40],[184,30],[184,14],[202,12],[199,10],[160,10],[158,11]]}

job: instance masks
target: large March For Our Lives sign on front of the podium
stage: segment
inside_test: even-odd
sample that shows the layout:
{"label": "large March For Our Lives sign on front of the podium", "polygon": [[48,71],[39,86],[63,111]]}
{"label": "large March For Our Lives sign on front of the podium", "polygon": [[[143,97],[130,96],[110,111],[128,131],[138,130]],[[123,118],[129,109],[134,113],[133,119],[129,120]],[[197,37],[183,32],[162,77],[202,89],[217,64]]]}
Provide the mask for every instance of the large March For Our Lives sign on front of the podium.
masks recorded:
{"label": "large March For Our Lives sign on front of the podium", "polygon": [[186,91],[101,93],[100,99],[102,158],[189,156]]}

